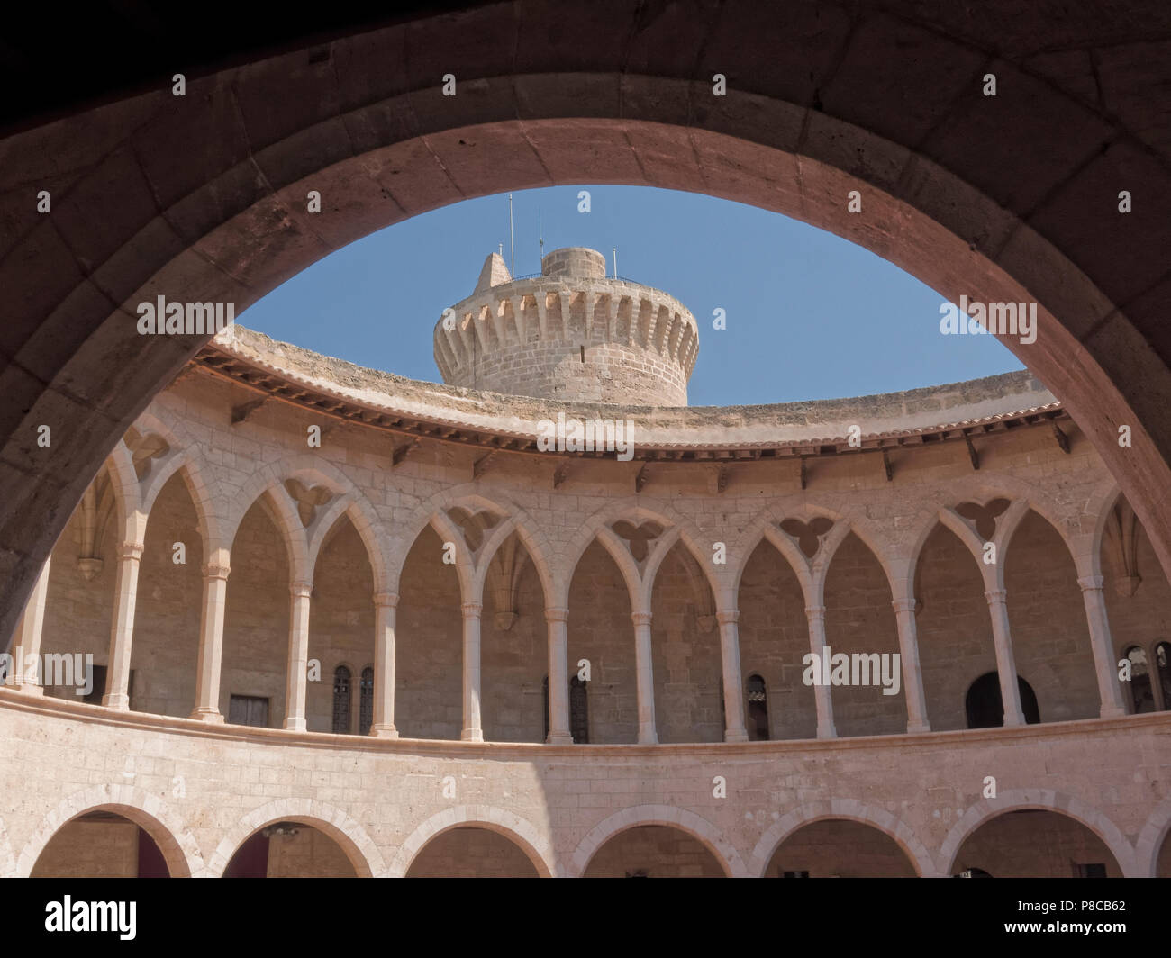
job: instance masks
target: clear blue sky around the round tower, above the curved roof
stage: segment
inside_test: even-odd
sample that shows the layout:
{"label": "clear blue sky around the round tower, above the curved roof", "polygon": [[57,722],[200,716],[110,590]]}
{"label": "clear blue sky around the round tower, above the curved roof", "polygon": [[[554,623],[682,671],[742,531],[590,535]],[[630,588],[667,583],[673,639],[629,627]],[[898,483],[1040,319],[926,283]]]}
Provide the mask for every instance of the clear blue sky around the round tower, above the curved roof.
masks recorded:
{"label": "clear blue sky around the round tower, above the curved roof", "polygon": [[[577,211],[580,190],[590,212]],[[699,323],[691,405],[890,392],[1021,369],[992,336],[943,336],[943,297],[831,233],[697,193],[556,186],[513,193],[516,273],[589,246],[664,289]],[[439,379],[431,331],[508,248],[507,194],[413,217],[338,249],[237,316],[278,340],[417,379]],[[727,328],[712,328],[713,310]]]}

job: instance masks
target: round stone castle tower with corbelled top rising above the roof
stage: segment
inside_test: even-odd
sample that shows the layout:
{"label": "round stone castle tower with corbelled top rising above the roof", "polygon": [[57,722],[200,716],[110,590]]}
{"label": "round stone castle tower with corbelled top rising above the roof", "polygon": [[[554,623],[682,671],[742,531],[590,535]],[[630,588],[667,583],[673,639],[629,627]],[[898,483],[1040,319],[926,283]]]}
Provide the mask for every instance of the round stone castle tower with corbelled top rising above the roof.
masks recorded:
{"label": "round stone castle tower with corbelled top rising above the roof", "polygon": [[514,280],[485,260],[475,290],[445,310],[434,357],[445,383],[516,396],[684,406],[699,354],[696,317],[673,296],[608,279],[596,249],[554,249]]}

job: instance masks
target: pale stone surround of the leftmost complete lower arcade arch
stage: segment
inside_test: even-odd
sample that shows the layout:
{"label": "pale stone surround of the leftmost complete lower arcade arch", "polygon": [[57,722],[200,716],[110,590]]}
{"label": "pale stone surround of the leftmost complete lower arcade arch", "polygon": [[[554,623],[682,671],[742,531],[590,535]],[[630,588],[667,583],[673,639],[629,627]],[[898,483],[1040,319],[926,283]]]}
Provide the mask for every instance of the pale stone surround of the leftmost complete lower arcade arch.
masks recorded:
{"label": "pale stone surround of the leftmost complete lower arcade arch", "polygon": [[190,878],[204,869],[199,846],[183,819],[157,795],[132,785],[96,785],[75,792],[54,808],[26,842],[16,861],[15,875],[27,878],[46,846],[62,826],[87,812],[114,812],[151,836],[172,878]]}

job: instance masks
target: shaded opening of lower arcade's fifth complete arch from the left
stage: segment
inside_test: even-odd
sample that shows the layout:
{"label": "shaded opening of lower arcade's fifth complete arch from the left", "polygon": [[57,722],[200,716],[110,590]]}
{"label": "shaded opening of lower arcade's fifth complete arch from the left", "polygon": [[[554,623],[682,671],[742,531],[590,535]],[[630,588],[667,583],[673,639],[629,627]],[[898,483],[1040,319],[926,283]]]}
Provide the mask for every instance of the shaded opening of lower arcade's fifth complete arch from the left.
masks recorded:
{"label": "shaded opening of lower arcade's fifth complete arch from the left", "polygon": [[875,824],[827,817],[807,822],[776,846],[766,878],[915,878],[919,873],[895,839]]}

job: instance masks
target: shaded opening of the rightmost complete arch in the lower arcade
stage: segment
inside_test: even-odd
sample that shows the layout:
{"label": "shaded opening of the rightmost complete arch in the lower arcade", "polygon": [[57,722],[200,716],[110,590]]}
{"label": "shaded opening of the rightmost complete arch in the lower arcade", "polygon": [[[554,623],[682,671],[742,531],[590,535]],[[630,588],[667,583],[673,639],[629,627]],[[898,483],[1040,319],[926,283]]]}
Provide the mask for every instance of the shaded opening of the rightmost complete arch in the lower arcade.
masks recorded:
{"label": "shaded opening of the rightmost complete arch in the lower arcade", "polygon": [[1050,808],[1014,808],[986,819],[970,832],[947,874],[1121,878],[1125,873],[1109,846],[1073,815]]}

